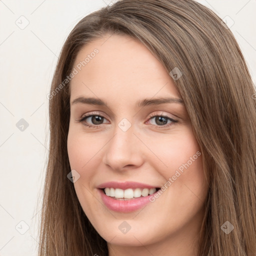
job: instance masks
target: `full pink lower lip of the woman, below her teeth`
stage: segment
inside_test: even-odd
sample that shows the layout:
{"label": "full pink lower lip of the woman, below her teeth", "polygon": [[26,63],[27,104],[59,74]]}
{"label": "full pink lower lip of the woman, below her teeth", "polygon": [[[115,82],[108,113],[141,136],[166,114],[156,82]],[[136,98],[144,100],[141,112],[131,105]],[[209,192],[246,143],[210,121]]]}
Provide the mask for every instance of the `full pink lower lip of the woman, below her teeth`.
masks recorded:
{"label": "full pink lower lip of the woman, below her teeth", "polygon": [[[142,208],[148,202],[150,202],[149,197],[153,194],[137,197],[131,200],[116,200],[110,196],[107,196],[102,189],[98,189],[103,203],[110,209],[119,212],[131,212]],[[155,192],[156,193],[156,192]]]}

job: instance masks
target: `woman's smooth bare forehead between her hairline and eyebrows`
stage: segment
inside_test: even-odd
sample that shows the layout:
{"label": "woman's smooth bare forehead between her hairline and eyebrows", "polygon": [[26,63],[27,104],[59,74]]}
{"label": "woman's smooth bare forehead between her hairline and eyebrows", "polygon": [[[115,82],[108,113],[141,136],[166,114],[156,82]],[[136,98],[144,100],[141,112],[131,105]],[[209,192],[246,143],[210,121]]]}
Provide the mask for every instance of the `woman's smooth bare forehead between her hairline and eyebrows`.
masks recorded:
{"label": "woman's smooth bare forehead between her hairline and eyebrows", "polygon": [[74,68],[77,74],[70,83],[70,101],[81,95],[126,101],[155,94],[180,97],[161,62],[127,35],[107,34],[86,44]]}

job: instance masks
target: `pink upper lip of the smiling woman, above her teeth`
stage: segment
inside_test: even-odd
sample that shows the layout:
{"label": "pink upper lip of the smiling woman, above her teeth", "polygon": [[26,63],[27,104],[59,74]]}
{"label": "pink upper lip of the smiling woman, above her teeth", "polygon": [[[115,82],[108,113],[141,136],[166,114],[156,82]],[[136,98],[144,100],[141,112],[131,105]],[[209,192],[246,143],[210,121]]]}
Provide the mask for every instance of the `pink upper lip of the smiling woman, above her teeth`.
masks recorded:
{"label": "pink upper lip of the smiling woman, above her teeth", "polygon": [[136,181],[124,181],[124,182],[118,182],[118,181],[108,181],[101,183],[98,188],[105,188],[105,187],[113,187],[113,188],[121,188],[121,189],[127,189],[127,188],[154,188],[158,186],[144,184]]}

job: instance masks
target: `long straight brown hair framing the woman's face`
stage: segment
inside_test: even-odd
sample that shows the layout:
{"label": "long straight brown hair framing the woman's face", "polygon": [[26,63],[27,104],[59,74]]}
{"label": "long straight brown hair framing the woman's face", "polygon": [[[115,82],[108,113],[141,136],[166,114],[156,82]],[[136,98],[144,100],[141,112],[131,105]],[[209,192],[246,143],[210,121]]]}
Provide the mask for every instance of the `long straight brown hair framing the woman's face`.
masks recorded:
{"label": "long straight brown hair framing the woman's face", "polygon": [[[198,256],[255,256],[255,88],[231,31],[193,0],[120,0],[82,18],[68,35],[48,97],[50,148],[39,255],[108,255],[106,241],[87,219],[67,178],[66,77],[86,43],[113,33],[139,39],[168,72],[174,67],[182,71],[174,84],[201,148],[209,184]],[[222,231],[226,223],[234,227],[228,234]]]}

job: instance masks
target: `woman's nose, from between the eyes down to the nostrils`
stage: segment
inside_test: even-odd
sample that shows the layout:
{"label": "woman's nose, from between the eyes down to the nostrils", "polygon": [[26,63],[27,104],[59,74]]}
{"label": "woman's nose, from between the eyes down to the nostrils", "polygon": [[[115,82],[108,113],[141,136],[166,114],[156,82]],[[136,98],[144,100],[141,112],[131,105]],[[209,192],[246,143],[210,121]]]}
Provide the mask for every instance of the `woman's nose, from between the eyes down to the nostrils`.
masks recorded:
{"label": "woman's nose, from between the eyes down to the nostrils", "polygon": [[142,143],[133,127],[123,131],[116,125],[114,134],[105,145],[104,164],[115,171],[139,167],[143,163]]}

